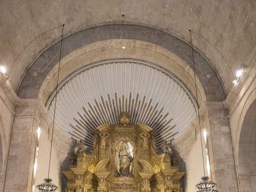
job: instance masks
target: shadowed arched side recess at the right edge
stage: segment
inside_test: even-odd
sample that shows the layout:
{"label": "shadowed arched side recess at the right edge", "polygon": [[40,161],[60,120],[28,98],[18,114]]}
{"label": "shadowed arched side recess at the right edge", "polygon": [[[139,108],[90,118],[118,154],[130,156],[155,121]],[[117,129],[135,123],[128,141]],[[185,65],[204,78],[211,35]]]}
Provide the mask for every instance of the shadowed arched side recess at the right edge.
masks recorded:
{"label": "shadowed arched side recess at the right edge", "polygon": [[241,191],[256,188],[256,100],[248,108],[240,130],[238,179]]}

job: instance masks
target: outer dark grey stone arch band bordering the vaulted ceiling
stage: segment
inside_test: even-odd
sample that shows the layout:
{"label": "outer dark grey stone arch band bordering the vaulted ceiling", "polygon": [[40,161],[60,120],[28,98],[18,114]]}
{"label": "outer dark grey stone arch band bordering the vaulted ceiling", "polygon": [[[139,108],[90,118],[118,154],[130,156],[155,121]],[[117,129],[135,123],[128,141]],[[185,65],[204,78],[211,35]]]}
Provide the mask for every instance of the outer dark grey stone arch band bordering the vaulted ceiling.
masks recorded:
{"label": "outer dark grey stone arch band bordering the vaulted ceiling", "polygon": [[[122,32],[122,35],[120,35],[119,31]],[[192,68],[192,54],[191,48],[188,44],[160,29],[157,30],[146,26],[134,26],[128,24],[125,26],[96,26],[94,28],[81,30],[80,32],[76,32],[66,37],[64,42],[67,48],[63,51],[62,58],[83,46],[113,39],[143,41],[160,46],[164,50],[172,52],[175,55],[174,60],[180,58],[184,60],[190,68]],[[41,88],[46,76],[58,63],[59,47],[60,42],[57,42],[37,58],[21,82],[19,90],[17,91],[18,96],[21,98],[38,97],[38,90]],[[165,54],[163,53],[163,55]],[[225,91],[222,86],[222,82],[215,74],[213,67],[196,51],[194,58],[196,62],[196,75],[202,84],[204,92],[207,94],[207,100],[223,101],[225,99]],[[31,76],[31,72],[33,70],[38,72],[38,76]],[[208,73],[212,74],[211,79],[206,78],[206,74]]]}

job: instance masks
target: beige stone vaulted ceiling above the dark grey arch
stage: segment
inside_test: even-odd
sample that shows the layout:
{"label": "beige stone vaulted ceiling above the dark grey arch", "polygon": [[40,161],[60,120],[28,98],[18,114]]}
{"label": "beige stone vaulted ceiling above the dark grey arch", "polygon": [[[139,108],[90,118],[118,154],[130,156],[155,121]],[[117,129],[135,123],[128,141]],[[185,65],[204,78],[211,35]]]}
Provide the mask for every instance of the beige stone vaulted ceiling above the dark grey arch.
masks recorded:
{"label": "beige stone vaulted ceiling above the dark grey arch", "polygon": [[[107,23],[151,26],[194,44],[229,92],[235,71],[255,54],[253,0],[8,0],[0,6],[0,60],[18,88],[34,59],[64,36]],[[124,16],[122,16],[124,15]],[[198,34],[198,35],[197,35]]]}

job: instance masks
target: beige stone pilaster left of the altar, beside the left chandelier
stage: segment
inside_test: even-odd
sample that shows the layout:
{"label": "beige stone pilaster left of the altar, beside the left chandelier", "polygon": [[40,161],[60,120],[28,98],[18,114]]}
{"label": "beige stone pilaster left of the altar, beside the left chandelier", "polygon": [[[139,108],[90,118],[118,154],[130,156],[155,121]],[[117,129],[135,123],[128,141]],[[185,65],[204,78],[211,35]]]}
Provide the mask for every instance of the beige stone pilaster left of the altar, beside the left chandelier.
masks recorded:
{"label": "beige stone pilaster left of the altar, beside the left chandelier", "polygon": [[20,99],[16,105],[4,182],[6,192],[31,191],[39,103],[37,99]]}

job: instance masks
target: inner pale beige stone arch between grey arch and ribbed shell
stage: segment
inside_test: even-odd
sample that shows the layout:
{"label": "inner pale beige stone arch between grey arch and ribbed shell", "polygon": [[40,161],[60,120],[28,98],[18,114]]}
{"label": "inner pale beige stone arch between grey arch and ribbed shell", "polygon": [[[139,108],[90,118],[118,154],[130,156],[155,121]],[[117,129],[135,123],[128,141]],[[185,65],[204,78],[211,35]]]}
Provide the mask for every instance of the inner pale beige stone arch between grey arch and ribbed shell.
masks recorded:
{"label": "inner pale beige stone arch between grey arch and ribbed shell", "polygon": [[[121,40],[121,42],[123,41],[127,42],[128,40]],[[110,62],[113,62],[114,60],[140,60],[144,63],[153,63],[158,65],[160,68],[164,68],[165,70],[173,73],[181,82],[186,84],[188,90],[190,90],[190,92],[195,96],[194,72],[192,68],[188,67],[183,60],[177,58],[172,52],[168,52],[164,48],[147,42],[136,41],[136,47],[131,50],[133,52],[132,58],[129,58],[130,56],[128,54],[122,54],[122,57],[124,58],[120,58],[120,47],[111,46],[112,42],[113,40],[96,42],[75,50],[63,58],[60,66],[60,84],[62,84],[62,81],[70,76],[70,74],[79,71],[81,68],[90,66],[91,64],[94,65],[108,60],[111,60]],[[109,46],[104,48],[106,44]],[[104,49],[104,54],[102,54],[102,49]],[[98,58],[98,55],[100,55],[100,58]],[[57,71],[58,66],[56,65],[52,68],[42,83],[38,98],[42,100],[43,103],[47,102],[50,94],[54,92],[54,89],[56,88]],[[199,79],[197,82],[199,82]],[[59,86],[61,86],[60,84]],[[59,88],[60,87],[58,87],[58,89]],[[199,105],[201,105],[202,102],[207,100],[207,97],[204,92],[204,87],[200,83],[198,83],[198,93]]]}

